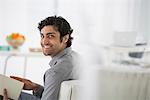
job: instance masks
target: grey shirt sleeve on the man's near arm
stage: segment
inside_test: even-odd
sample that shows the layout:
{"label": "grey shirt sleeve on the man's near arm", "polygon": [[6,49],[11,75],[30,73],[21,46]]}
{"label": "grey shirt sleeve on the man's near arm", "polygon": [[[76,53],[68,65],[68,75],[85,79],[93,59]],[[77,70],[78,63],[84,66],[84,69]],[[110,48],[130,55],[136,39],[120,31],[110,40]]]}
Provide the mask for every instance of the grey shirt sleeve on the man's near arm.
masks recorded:
{"label": "grey shirt sleeve on the man's near arm", "polygon": [[41,100],[58,100],[61,82],[67,79],[70,72],[69,66],[68,62],[60,62],[47,71]]}

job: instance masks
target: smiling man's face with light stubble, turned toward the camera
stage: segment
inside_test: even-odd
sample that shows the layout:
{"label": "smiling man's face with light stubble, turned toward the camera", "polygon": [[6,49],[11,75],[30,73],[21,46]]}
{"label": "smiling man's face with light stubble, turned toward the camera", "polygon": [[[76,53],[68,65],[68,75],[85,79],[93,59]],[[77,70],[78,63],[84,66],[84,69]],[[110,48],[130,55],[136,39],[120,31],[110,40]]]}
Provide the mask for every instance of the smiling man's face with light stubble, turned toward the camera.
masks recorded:
{"label": "smiling man's face with light stubble, turned toward the camera", "polygon": [[44,55],[53,57],[66,47],[66,42],[64,39],[60,40],[59,31],[52,25],[48,25],[41,30],[41,46]]}

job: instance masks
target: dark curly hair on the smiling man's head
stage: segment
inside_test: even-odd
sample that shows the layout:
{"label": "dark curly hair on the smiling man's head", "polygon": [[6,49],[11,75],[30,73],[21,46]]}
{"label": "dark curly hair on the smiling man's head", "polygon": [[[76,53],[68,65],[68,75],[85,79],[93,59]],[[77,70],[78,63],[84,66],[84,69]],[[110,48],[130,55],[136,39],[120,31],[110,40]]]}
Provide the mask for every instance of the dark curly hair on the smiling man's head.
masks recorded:
{"label": "dark curly hair on the smiling man's head", "polygon": [[62,41],[62,38],[69,34],[69,39],[67,41],[67,47],[70,47],[72,45],[73,37],[71,37],[71,34],[73,32],[73,29],[71,28],[70,24],[61,16],[51,16],[47,17],[46,19],[42,20],[38,24],[38,29],[41,31],[41,29],[44,26],[52,25],[54,28],[60,32],[60,39]]}

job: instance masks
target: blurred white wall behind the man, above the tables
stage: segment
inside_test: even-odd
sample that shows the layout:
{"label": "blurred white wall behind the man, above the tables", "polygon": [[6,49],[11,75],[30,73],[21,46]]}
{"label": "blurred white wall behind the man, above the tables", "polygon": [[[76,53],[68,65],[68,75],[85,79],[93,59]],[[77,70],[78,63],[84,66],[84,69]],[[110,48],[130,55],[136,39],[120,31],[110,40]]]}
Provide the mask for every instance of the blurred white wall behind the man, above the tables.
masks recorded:
{"label": "blurred white wall behind the man, above the tables", "polygon": [[54,14],[71,23],[75,48],[87,42],[109,45],[114,31],[137,31],[144,41],[149,39],[149,0],[1,0],[0,4],[0,45],[7,45],[7,34],[20,32],[27,37],[23,51],[40,47],[37,24]]}

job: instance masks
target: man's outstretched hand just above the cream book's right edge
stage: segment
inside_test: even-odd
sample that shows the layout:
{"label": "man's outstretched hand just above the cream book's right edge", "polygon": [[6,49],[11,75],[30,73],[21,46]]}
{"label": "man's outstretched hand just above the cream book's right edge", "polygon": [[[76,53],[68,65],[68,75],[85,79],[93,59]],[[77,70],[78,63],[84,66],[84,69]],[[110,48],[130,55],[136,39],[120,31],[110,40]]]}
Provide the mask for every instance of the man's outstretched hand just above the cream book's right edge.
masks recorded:
{"label": "man's outstretched hand just above the cream book's right edge", "polygon": [[20,82],[23,82],[24,83],[24,87],[23,89],[24,90],[33,90],[33,91],[36,91],[39,87],[38,84],[28,80],[28,79],[25,79],[25,78],[20,78],[20,77],[16,77],[16,76],[10,76],[11,78],[15,79],[15,80],[18,80]]}

